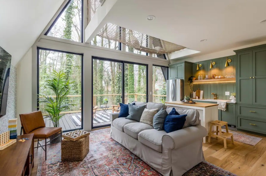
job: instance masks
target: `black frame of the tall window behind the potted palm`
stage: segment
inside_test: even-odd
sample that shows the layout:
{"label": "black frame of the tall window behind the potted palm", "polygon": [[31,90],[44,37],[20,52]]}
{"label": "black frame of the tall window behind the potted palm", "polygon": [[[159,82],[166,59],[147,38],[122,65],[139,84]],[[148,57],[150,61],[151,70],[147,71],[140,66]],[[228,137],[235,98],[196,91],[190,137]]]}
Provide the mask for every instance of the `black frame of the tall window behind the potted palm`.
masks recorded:
{"label": "black frame of the tall window behind the potted palm", "polygon": [[84,122],[84,116],[83,116],[83,53],[75,53],[75,52],[67,52],[67,51],[61,51],[58,49],[49,49],[49,48],[42,48],[42,47],[37,47],[37,110],[39,110],[39,70],[40,70],[40,50],[46,50],[46,51],[53,51],[53,52],[61,52],[61,53],[66,53],[66,54],[75,54],[75,55],[80,55],[81,56],[81,128],[77,129],[71,129],[71,130],[64,130],[63,132],[68,132],[68,131],[74,131],[74,130],[82,130],[83,129],[83,122]]}

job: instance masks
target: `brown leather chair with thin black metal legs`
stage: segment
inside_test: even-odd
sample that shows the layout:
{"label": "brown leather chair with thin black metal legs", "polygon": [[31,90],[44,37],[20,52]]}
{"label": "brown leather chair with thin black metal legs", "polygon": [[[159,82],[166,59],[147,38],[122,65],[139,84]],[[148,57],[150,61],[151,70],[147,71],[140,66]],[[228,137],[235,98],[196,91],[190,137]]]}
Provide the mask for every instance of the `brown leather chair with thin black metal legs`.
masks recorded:
{"label": "brown leather chair with thin black metal legs", "polygon": [[[39,110],[31,112],[31,113],[19,114],[19,117],[20,117],[20,122],[21,122],[20,135],[23,130],[23,134],[33,133],[34,139],[38,139],[37,147],[34,147],[34,148],[39,147],[39,144],[40,144],[39,139],[45,139],[45,149],[43,148],[44,145],[42,146],[40,144],[40,147],[44,149],[45,151],[45,160],[46,160],[46,146],[50,145],[50,144],[47,144],[48,142],[50,142],[50,141],[47,142],[47,138],[49,138],[52,135],[55,135],[56,133],[60,133],[61,135],[55,138],[60,137],[59,142],[61,142],[62,141],[62,127],[45,127],[44,118],[42,116],[41,111]],[[55,143],[58,143],[58,142],[55,142]]]}

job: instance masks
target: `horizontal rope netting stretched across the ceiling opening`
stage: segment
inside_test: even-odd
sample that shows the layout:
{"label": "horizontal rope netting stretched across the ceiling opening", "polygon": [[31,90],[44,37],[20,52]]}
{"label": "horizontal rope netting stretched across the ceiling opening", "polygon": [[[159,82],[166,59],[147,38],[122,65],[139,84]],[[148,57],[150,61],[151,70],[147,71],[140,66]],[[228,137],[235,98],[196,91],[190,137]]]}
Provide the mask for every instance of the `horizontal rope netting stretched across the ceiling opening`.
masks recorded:
{"label": "horizontal rope netting stretched across the ceiling opening", "polygon": [[151,54],[166,54],[186,48],[110,23],[107,23],[97,35],[109,40],[124,43],[134,49]]}

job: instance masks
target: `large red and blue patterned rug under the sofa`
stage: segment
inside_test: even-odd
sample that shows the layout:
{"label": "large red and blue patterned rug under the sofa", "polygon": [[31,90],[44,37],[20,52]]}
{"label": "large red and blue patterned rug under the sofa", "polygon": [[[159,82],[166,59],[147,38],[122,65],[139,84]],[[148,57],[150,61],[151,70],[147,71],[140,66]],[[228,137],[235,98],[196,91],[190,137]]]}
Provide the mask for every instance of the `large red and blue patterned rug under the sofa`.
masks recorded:
{"label": "large red and blue patterned rug under the sofa", "polygon": [[[90,151],[83,161],[62,162],[61,144],[41,149],[37,176],[161,176],[121,144],[109,137],[110,128],[92,131]],[[206,161],[183,176],[236,176]]]}

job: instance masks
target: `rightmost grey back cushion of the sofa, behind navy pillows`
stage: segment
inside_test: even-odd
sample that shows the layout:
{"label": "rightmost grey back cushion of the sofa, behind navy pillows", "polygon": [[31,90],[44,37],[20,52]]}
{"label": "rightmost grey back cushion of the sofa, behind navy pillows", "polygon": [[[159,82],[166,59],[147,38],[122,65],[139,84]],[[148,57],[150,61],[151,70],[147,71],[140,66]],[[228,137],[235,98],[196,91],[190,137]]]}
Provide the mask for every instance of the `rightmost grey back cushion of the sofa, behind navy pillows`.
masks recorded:
{"label": "rightmost grey back cushion of the sofa, behind navy pillows", "polygon": [[[168,107],[166,108],[167,113],[170,113],[173,107]],[[175,108],[175,110],[180,114],[184,115],[187,114],[186,116],[186,121],[183,126],[183,128],[186,127],[191,127],[191,126],[196,126],[200,124],[200,113],[197,109],[180,109],[180,108]]]}

